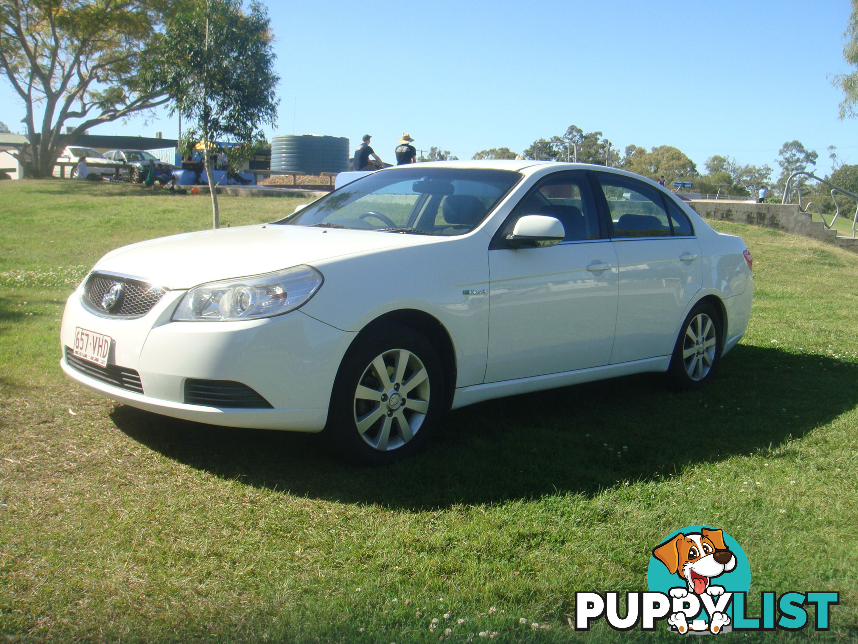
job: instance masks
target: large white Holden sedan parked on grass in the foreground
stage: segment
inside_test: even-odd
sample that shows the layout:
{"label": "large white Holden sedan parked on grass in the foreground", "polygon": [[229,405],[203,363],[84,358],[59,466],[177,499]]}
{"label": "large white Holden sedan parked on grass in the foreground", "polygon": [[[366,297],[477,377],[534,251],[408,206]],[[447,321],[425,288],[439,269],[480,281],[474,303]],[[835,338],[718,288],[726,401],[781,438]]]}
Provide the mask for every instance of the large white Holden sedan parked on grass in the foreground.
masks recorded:
{"label": "large white Holden sedan parked on grass in the foreground", "polygon": [[278,222],[107,253],[66,304],[61,364],[120,403],[384,463],[489,398],[642,372],[703,386],[746,330],[751,265],[622,170],[391,167]]}

